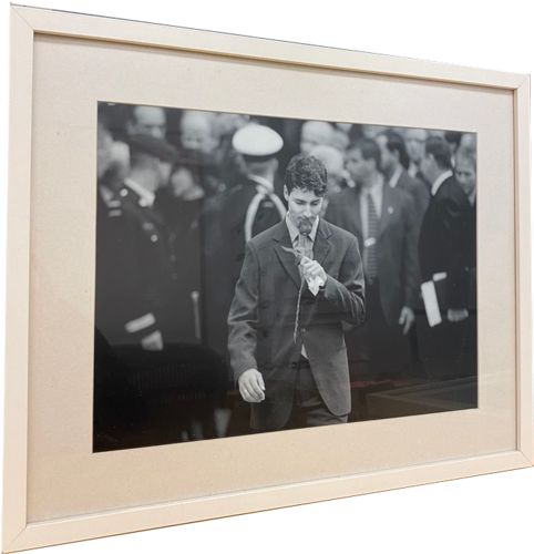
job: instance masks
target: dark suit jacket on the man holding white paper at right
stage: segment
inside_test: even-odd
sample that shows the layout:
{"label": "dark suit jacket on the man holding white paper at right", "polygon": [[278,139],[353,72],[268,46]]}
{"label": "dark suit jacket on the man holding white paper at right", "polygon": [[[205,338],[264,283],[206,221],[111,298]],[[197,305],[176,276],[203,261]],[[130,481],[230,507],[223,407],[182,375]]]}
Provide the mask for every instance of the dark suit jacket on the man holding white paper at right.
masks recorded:
{"label": "dark suit jacket on the man holding white paper at right", "polygon": [[423,281],[446,273],[442,309],[462,309],[469,301],[469,249],[472,207],[453,176],[431,198],[419,237]]}

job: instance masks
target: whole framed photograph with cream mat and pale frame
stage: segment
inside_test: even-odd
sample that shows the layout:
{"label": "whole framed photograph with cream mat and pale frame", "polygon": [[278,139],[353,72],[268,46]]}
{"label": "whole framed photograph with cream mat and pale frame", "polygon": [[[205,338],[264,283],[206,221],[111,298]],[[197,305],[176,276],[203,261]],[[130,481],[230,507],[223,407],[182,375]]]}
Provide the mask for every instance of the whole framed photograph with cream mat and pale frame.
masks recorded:
{"label": "whole framed photograph with cream mat and pale frame", "polygon": [[12,7],[3,551],[531,466],[528,99]]}

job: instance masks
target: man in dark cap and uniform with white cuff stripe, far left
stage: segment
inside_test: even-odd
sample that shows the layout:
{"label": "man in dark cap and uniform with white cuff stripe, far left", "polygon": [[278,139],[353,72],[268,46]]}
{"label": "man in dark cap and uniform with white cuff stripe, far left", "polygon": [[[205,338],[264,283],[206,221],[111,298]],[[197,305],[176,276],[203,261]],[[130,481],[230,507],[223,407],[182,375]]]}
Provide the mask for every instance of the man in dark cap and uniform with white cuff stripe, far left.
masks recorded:
{"label": "man in dark cap and uniform with white cuff stripe, far left", "polygon": [[113,229],[97,229],[96,316],[112,346],[162,350],[176,338],[168,306],[176,269],[154,199],[168,179],[174,148],[144,135],[132,138],[130,148],[132,168],[113,199]]}

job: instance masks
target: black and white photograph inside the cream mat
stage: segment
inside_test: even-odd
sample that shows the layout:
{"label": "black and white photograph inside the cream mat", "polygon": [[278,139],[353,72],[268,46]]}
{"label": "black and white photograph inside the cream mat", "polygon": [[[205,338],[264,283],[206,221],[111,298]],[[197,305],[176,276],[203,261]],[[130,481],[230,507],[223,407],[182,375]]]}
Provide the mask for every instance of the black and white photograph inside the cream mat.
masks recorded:
{"label": "black and white photograph inside the cream mat", "polygon": [[95,141],[95,452],[476,408],[474,133],[99,102]]}

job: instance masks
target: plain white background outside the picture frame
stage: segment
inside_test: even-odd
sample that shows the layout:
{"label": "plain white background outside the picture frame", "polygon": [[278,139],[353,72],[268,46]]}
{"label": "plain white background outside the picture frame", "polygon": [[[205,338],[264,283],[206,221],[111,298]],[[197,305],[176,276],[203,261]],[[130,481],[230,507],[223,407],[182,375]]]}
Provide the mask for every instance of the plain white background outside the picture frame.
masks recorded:
{"label": "plain white background outside the picture frame", "polygon": [[[1,0],[1,121],[8,121],[8,7]],[[485,69],[534,73],[528,3],[21,0],[21,3]],[[4,340],[7,125],[0,125],[0,358]],[[499,265],[495,265],[499,270]],[[3,427],[3,422],[2,422]],[[179,471],[179,468],[176,468]],[[83,479],[83,475],[81,475]],[[142,478],[142,475],[140,475]],[[50,547],[43,553],[532,552],[534,470]],[[37,551],[32,551],[37,552]]]}

